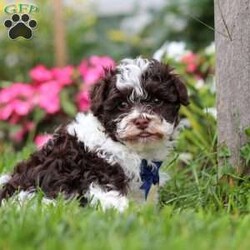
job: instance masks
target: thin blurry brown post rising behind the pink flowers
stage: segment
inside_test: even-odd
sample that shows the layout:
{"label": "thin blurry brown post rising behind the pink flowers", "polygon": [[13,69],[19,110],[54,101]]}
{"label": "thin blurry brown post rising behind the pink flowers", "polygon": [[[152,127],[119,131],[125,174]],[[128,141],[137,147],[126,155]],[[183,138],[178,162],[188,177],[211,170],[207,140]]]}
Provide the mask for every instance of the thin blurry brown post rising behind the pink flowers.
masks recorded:
{"label": "thin blurry brown post rising behind the pink flowers", "polygon": [[62,0],[53,0],[54,5],[54,47],[56,66],[65,66],[67,63],[67,50],[65,42],[65,28],[63,18]]}

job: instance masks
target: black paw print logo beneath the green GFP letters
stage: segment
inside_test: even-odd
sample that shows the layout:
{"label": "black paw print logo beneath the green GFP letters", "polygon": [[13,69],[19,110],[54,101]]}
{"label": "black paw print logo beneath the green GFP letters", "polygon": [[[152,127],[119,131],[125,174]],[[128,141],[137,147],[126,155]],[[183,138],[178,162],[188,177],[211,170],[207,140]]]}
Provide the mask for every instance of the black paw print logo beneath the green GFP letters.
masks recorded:
{"label": "black paw print logo beneath the green GFP letters", "polygon": [[4,26],[8,28],[8,34],[11,39],[16,39],[20,36],[30,39],[33,36],[33,30],[37,27],[37,22],[34,19],[30,20],[27,14],[22,16],[14,14],[11,19],[5,20]]}

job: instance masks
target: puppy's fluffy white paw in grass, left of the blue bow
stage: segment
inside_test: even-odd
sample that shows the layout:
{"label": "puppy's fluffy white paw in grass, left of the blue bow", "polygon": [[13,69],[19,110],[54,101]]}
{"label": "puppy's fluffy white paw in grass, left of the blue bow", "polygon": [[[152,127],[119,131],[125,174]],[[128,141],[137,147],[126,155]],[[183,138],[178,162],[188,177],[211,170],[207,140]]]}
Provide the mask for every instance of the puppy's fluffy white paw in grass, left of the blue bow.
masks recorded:
{"label": "puppy's fluffy white paw in grass, left of the blue bow", "polygon": [[129,205],[127,197],[118,191],[105,191],[102,187],[94,183],[90,185],[86,197],[89,200],[91,206],[97,206],[100,204],[104,211],[114,208],[119,212],[124,212]]}

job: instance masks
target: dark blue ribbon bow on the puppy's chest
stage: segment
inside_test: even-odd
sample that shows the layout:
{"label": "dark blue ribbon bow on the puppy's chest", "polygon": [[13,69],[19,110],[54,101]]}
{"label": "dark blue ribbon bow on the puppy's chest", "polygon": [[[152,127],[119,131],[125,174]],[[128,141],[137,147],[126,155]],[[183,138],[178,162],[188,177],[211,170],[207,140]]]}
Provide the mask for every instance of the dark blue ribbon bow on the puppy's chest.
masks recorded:
{"label": "dark blue ribbon bow on the puppy's chest", "polygon": [[145,200],[148,197],[149,190],[152,184],[158,184],[160,181],[159,168],[162,161],[152,161],[153,164],[148,164],[147,160],[143,159],[140,165],[140,177],[143,182],[140,189],[145,192]]}

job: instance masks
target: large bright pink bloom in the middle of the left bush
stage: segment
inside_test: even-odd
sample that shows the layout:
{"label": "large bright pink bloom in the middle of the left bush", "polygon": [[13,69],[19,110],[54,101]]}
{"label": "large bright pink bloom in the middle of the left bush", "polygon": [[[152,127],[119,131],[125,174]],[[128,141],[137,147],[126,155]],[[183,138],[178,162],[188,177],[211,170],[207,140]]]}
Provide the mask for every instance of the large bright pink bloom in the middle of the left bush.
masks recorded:
{"label": "large bright pink bloom in the middle of the left bush", "polygon": [[37,87],[37,95],[34,102],[49,114],[60,110],[61,86],[56,81],[49,81]]}

